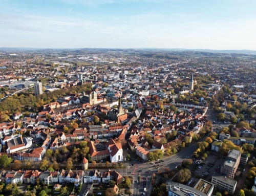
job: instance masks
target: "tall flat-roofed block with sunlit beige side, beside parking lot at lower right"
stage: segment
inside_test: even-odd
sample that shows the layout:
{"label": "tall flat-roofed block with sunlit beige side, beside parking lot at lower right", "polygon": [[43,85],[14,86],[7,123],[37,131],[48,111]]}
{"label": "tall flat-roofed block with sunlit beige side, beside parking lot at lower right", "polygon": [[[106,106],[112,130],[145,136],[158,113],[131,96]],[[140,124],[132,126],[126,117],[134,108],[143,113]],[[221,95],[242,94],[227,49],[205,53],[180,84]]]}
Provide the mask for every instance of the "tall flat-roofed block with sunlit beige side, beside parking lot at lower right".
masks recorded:
{"label": "tall flat-roofed block with sunlit beige side, beside parking lot at lower right", "polygon": [[234,175],[238,169],[241,152],[238,150],[230,150],[224,162],[221,165],[221,174],[225,177],[233,179]]}

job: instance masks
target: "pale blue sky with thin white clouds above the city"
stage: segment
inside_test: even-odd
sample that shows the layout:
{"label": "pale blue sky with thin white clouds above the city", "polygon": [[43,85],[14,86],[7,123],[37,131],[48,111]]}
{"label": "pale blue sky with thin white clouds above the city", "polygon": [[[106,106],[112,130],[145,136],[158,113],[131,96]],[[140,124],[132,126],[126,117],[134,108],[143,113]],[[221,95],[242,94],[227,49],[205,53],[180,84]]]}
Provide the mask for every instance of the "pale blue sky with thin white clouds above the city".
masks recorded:
{"label": "pale blue sky with thin white clouds above the city", "polygon": [[256,50],[255,0],[0,0],[0,47]]}

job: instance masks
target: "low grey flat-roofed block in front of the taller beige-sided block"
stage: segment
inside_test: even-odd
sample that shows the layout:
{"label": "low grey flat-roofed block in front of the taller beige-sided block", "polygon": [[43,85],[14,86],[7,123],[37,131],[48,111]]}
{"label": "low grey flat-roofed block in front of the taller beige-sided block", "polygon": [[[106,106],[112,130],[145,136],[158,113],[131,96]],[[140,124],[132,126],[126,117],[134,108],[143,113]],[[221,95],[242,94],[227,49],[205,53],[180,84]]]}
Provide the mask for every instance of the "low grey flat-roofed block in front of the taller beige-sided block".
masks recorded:
{"label": "low grey flat-roofed block in front of the taller beige-sided block", "polygon": [[237,181],[226,178],[220,173],[215,173],[214,176],[211,177],[211,183],[219,189],[228,191],[229,194],[233,194],[237,186]]}

